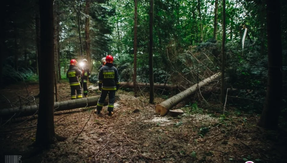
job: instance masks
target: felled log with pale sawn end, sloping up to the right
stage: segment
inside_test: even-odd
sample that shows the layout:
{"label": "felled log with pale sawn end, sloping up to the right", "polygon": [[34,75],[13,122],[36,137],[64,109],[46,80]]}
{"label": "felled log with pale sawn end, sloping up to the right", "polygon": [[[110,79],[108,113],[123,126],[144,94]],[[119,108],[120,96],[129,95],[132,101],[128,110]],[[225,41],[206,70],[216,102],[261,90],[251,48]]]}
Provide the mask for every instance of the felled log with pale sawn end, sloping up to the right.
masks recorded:
{"label": "felled log with pale sawn end, sloping up to the right", "polygon": [[173,97],[167,99],[166,101],[163,101],[162,103],[156,105],[156,113],[160,113],[161,116],[165,116],[172,107],[176,106],[186,97],[195,92],[197,88],[207,85],[208,82],[211,82],[212,80],[218,78],[220,75],[220,72],[214,74],[211,77],[204,79],[202,82],[199,82],[198,85],[195,84],[192,87],[186,89],[185,91],[182,91],[179,94],[176,94]]}

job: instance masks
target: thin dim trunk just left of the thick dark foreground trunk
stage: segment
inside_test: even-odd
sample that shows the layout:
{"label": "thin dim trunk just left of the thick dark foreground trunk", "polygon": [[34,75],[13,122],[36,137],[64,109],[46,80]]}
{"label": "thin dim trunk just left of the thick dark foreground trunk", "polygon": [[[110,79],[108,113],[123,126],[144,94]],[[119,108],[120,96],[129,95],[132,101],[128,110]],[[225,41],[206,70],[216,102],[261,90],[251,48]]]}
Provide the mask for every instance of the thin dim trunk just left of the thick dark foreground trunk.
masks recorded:
{"label": "thin dim trunk just left of the thick dark foreground trunk", "polygon": [[40,79],[40,56],[41,56],[41,47],[40,47],[40,41],[41,41],[41,37],[40,37],[40,14],[38,9],[36,9],[36,15],[35,15],[35,19],[36,19],[36,43],[37,43],[37,62],[38,62],[38,76]]}

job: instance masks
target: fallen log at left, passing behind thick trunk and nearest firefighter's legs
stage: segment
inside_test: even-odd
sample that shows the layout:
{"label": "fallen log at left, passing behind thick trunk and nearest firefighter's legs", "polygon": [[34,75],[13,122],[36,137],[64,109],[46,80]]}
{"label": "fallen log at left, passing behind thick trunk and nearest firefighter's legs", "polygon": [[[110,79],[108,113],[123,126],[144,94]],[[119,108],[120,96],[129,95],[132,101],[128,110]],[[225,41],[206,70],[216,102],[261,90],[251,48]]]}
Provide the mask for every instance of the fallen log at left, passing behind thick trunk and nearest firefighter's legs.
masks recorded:
{"label": "fallen log at left, passing behind thick trunk and nearest firefighter's legs", "polygon": [[[63,111],[63,110],[70,110],[70,109],[77,109],[82,107],[90,107],[96,106],[98,104],[98,99],[100,96],[91,96],[86,98],[79,98],[75,100],[67,100],[67,101],[60,101],[54,103],[54,110],[55,111]],[[116,96],[116,100],[118,100],[118,96]],[[105,99],[104,105],[108,105],[108,97]],[[29,116],[36,113],[38,110],[37,105],[31,106],[23,106],[23,107],[13,107],[8,109],[1,109],[0,110],[0,117],[10,118],[9,116],[13,116],[15,113],[15,117],[23,117]]]}

